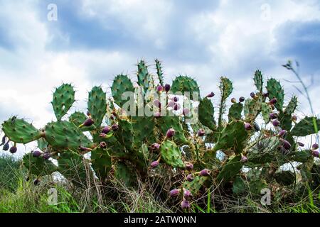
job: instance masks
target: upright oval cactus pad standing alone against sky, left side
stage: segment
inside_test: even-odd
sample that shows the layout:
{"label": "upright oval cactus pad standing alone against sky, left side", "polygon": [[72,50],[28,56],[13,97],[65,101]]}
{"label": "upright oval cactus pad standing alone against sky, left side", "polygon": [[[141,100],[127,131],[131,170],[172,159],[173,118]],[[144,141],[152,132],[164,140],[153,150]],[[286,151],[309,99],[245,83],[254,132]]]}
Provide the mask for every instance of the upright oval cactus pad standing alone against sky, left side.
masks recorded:
{"label": "upright oval cactus pad standing alone against sky, left side", "polygon": [[67,114],[74,102],[75,90],[71,84],[62,84],[60,87],[55,89],[51,104],[57,120],[60,120],[63,116],[65,116],[65,114]]}

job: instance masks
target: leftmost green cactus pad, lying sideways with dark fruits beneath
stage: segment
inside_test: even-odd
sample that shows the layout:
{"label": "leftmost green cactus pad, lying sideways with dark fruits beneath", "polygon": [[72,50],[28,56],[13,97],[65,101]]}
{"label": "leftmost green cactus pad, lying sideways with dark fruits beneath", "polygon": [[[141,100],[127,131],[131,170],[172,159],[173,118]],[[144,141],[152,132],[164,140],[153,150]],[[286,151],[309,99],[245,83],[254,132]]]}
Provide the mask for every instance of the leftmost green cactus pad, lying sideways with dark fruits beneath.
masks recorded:
{"label": "leftmost green cactus pad, lying sideways with dark fruits beneath", "polygon": [[2,123],[2,130],[11,141],[16,143],[25,144],[41,138],[41,131],[31,123],[15,116]]}

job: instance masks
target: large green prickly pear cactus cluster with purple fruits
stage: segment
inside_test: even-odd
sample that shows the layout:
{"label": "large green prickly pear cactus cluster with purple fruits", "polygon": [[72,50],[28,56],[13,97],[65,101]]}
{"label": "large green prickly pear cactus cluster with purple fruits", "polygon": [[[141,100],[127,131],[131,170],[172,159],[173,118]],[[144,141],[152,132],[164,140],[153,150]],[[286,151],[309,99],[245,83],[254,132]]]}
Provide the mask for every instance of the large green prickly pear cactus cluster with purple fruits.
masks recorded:
{"label": "large green prickly pear cactus cluster with purple fruits", "polygon": [[[117,75],[112,97],[102,87],[93,87],[86,113],[68,114],[75,91],[71,84],[61,85],[53,93],[56,121],[37,129],[22,118],[9,118],[1,126],[3,150],[16,153],[16,143],[37,141],[38,149],[23,157],[36,184],[42,176],[58,171],[79,187],[88,177],[104,184],[115,178],[134,186],[137,177],[147,179],[169,167],[179,172],[180,179],[169,195],[181,199],[182,209],[211,185],[231,185],[234,194],[258,192],[274,183],[291,185],[297,176],[280,167],[294,161],[299,162],[302,182],[319,182],[311,175],[318,146],[304,149],[299,138],[318,133],[320,119],[306,116],[298,122],[297,97],[285,106],[279,81],[271,78],[265,84],[257,70],[250,97],[230,99],[233,82],[220,77],[215,114],[213,92],[201,98],[196,80],[188,76],[165,84],[161,62],[156,60],[155,65],[156,74],[151,74],[146,62],[138,63],[139,86],[127,75]],[[260,118],[264,124],[259,124]],[[242,171],[243,167],[258,174],[248,177],[250,171]]]}

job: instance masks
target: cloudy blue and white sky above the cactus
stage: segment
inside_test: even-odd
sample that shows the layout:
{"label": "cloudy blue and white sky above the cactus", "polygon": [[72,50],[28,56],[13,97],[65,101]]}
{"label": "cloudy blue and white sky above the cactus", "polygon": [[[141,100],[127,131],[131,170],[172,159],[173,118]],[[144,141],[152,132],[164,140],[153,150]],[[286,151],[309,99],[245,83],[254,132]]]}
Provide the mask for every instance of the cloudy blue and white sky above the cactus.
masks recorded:
{"label": "cloudy blue and white sky above the cactus", "polygon": [[0,121],[18,114],[40,128],[54,120],[50,101],[62,82],[74,84],[75,109],[84,110],[90,87],[107,90],[122,72],[134,78],[142,58],[151,70],[162,60],[166,82],[196,78],[203,94],[218,93],[223,75],[234,96],[249,96],[260,69],[282,80],[286,100],[298,94],[308,114],[281,66],[298,60],[319,114],[320,1],[0,0]]}

